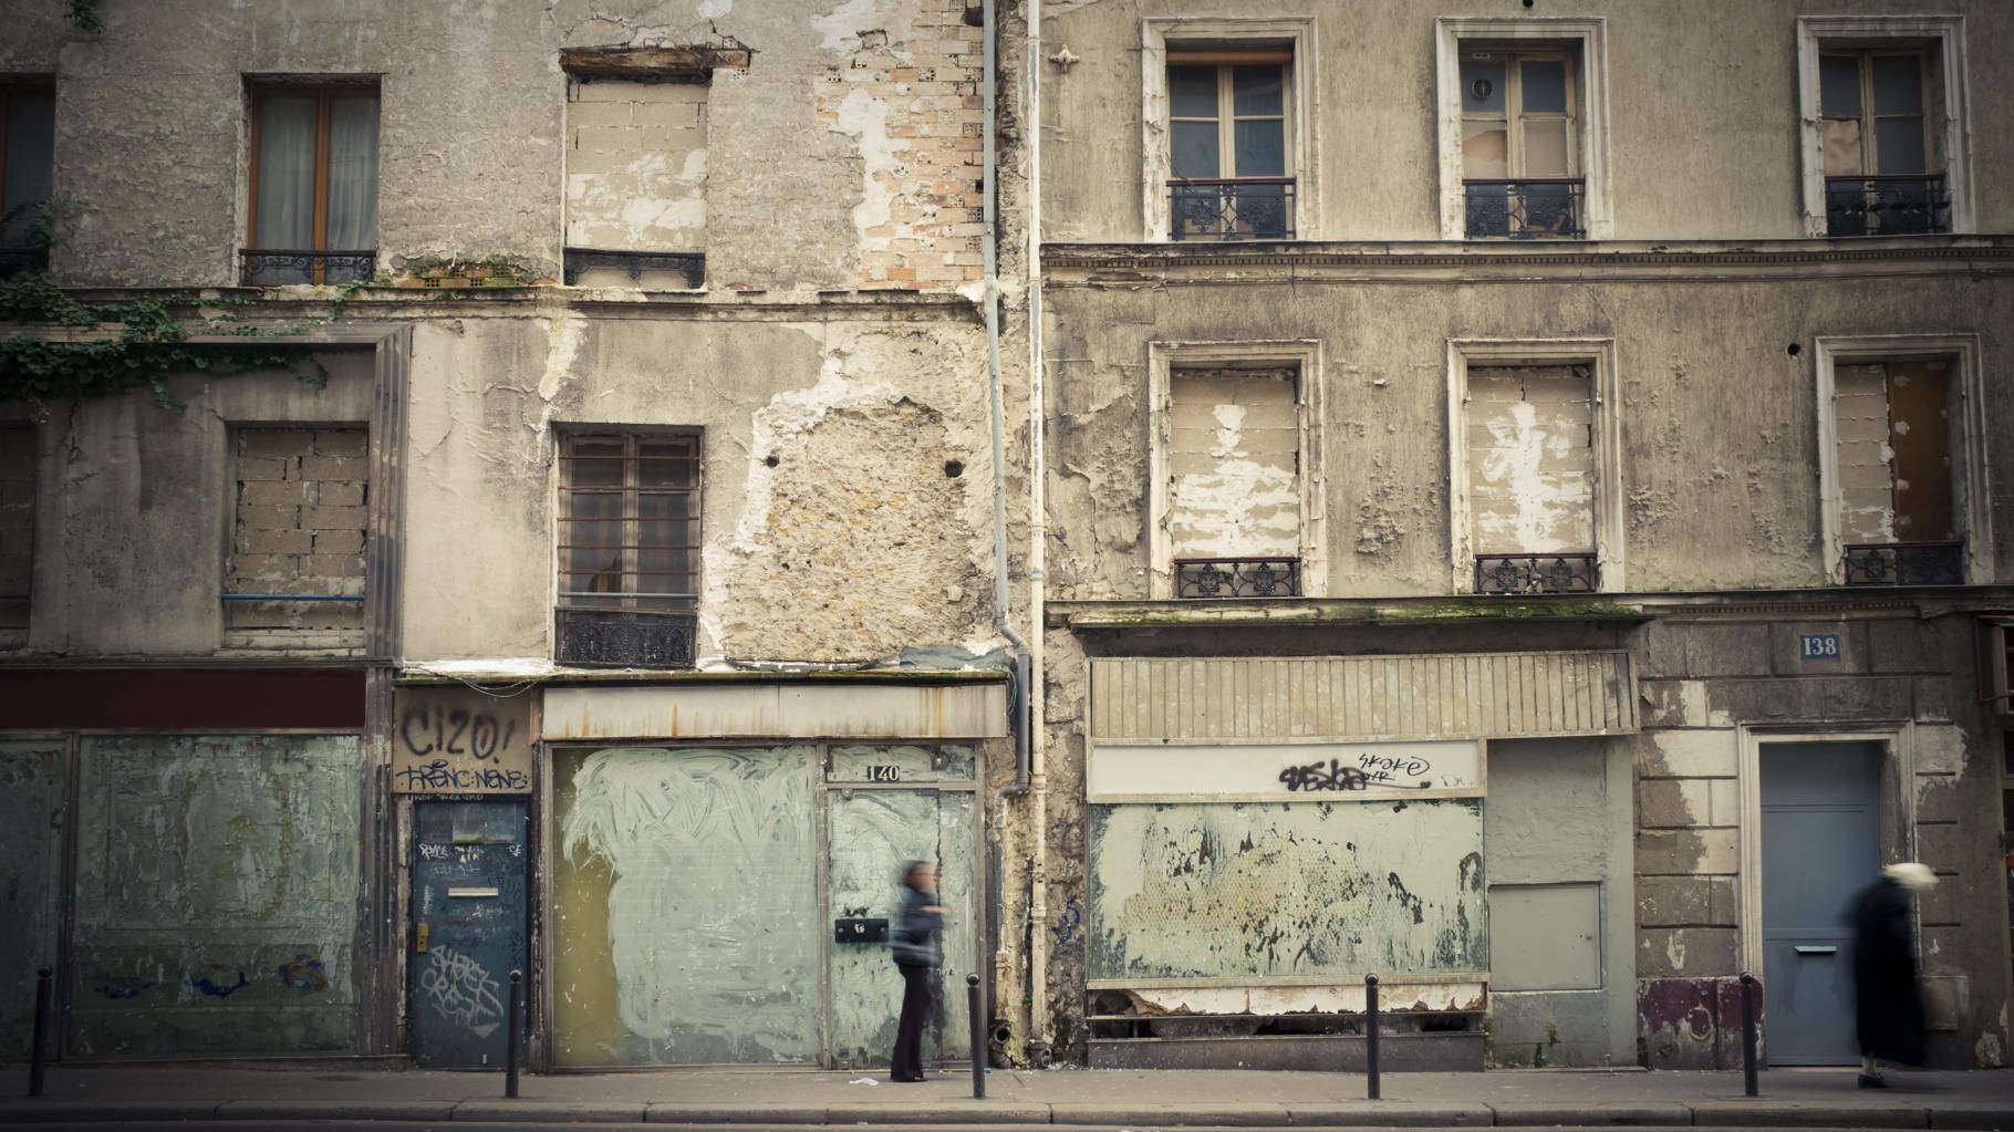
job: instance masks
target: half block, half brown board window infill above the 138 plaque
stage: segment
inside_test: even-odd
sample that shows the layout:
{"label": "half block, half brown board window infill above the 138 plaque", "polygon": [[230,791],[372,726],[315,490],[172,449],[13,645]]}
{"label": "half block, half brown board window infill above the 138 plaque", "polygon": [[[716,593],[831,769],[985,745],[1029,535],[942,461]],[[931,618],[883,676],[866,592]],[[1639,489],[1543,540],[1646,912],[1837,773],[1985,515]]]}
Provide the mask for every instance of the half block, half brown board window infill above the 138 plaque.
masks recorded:
{"label": "half block, half brown board window infill above the 138 plaque", "polygon": [[1950,365],[1835,371],[1839,526],[1845,542],[1960,538],[1952,506]]}

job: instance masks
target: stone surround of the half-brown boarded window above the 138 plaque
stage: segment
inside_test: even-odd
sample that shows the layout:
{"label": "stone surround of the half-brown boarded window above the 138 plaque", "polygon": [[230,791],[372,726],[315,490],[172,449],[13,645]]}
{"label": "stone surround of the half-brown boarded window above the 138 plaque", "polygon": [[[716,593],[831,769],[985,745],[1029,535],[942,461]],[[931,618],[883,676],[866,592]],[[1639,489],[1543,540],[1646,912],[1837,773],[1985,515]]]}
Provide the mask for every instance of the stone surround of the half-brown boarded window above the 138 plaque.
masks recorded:
{"label": "stone surround of the half-brown boarded window above the 138 plaque", "polygon": [[[1950,361],[1948,411],[1958,431],[1952,459],[1956,518],[1966,534],[1966,580],[1974,586],[1994,578],[1994,524],[1986,485],[1986,391],[1980,371],[1978,334],[1827,334],[1815,340],[1817,425],[1819,425],[1819,546],[1825,554],[1827,584],[1847,582],[1845,538],[1839,530],[1839,417],[1833,407],[1837,367],[1871,361]],[[1956,399],[1956,401],[1954,401]]]}

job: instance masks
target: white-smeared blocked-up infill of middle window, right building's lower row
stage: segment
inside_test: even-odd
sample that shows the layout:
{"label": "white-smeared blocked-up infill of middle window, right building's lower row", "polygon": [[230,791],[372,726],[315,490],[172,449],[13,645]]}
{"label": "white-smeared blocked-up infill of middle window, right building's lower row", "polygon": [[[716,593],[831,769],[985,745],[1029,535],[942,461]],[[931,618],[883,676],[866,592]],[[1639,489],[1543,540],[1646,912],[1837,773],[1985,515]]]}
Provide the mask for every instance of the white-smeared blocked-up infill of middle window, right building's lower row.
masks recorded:
{"label": "white-smeared blocked-up infill of middle window, right building's lower row", "polygon": [[1468,371],[1476,554],[1593,554],[1593,391],[1585,365]]}

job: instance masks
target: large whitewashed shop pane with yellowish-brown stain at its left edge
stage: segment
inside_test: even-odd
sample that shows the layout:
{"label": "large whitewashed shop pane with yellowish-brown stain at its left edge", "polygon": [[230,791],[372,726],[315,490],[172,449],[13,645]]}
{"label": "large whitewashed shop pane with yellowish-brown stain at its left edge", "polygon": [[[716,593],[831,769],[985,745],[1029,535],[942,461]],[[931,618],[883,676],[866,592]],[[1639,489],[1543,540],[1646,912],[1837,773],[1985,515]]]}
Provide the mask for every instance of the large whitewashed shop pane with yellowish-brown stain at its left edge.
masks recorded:
{"label": "large whitewashed shop pane with yellowish-brown stain at its left edge", "polygon": [[560,1066],[820,1053],[814,747],[554,755]]}

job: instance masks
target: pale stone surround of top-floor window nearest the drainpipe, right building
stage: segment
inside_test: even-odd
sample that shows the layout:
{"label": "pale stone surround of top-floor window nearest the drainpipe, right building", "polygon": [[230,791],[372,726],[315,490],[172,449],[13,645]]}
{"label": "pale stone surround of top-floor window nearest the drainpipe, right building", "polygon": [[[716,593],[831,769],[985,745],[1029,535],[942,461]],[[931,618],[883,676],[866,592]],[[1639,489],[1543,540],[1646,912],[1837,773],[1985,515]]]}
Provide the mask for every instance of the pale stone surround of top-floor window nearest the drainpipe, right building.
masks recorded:
{"label": "pale stone surround of top-floor window nearest the drainpipe, right building", "polygon": [[1293,169],[1295,240],[1321,238],[1321,161],[1315,121],[1321,115],[1321,75],[1315,58],[1315,18],[1247,20],[1148,18],[1140,22],[1140,216],[1148,244],[1168,242],[1168,40],[1182,42],[1287,42],[1293,50],[1287,99],[1287,153]]}

